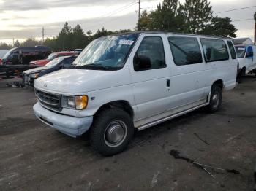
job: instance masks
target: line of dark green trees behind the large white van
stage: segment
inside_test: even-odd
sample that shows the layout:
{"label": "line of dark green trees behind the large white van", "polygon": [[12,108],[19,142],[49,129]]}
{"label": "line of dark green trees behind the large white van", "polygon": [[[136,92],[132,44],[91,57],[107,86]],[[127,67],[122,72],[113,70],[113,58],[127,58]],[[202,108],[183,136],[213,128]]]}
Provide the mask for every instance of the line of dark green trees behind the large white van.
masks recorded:
{"label": "line of dark green trees behind the large white van", "polygon": [[[59,34],[45,42],[29,38],[24,42],[16,40],[13,47],[34,47],[45,45],[52,50],[75,50],[84,48],[94,39],[108,34],[129,31],[170,31],[187,34],[206,34],[223,37],[236,37],[237,29],[231,23],[230,17],[213,16],[208,0],[186,0],[181,4],[179,0],[163,0],[153,11],[143,11],[134,30],[108,31],[104,27],[95,34],[86,33],[78,24],[74,28],[66,22]],[[0,49],[10,49],[10,44],[1,43]]]}

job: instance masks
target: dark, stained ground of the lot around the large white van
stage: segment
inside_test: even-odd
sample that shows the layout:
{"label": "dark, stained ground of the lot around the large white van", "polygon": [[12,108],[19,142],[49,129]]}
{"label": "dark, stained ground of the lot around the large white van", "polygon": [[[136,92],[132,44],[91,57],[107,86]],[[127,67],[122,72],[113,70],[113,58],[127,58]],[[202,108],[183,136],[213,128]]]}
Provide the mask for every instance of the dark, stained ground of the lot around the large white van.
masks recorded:
{"label": "dark, stained ground of the lot around the large white van", "polygon": [[[0,190],[253,190],[256,78],[223,94],[222,109],[199,109],[135,134],[102,157],[34,117],[34,92],[0,80]],[[178,152],[183,158],[178,157]],[[227,171],[205,170],[212,165]],[[231,171],[228,171],[231,170]]]}

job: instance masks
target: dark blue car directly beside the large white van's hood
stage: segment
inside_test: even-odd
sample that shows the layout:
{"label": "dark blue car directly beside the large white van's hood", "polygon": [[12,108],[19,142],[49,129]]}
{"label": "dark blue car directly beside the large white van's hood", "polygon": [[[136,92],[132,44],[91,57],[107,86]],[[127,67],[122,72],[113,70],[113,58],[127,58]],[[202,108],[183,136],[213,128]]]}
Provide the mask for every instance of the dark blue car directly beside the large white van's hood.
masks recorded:
{"label": "dark blue car directly beside the large white van's hood", "polygon": [[25,85],[34,86],[34,80],[59,69],[69,68],[77,56],[61,56],[54,58],[45,66],[29,69],[23,72],[23,80]]}

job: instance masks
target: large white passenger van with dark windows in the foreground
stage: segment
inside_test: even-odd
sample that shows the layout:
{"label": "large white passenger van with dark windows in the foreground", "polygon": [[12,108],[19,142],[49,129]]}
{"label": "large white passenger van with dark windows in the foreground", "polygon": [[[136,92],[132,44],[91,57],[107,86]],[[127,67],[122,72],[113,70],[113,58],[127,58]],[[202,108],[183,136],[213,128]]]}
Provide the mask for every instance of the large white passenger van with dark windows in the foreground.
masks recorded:
{"label": "large white passenger van with dark windows in the foreground", "polygon": [[163,32],[104,36],[91,42],[72,69],[35,81],[34,113],[69,136],[90,130],[102,155],[123,151],[143,130],[207,106],[236,87],[231,39]]}

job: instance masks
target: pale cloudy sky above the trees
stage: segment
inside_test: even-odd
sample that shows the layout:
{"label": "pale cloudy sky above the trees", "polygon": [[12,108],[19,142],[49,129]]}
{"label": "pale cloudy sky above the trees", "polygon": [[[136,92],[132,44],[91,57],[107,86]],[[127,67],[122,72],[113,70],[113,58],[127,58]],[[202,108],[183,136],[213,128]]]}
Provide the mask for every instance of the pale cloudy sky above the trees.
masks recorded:
{"label": "pale cloudy sky above the trees", "polygon": [[[154,10],[159,2],[162,1],[141,0],[142,11]],[[253,39],[256,7],[219,12],[256,6],[255,0],[210,2],[214,16],[230,17],[239,37]],[[108,30],[133,29],[138,21],[138,0],[0,0],[0,42],[12,44],[12,39],[20,42],[30,37],[42,39],[42,27],[45,38],[53,37],[66,21],[69,26],[80,24],[84,31],[93,33],[103,26]]]}

